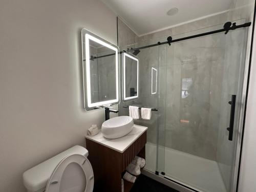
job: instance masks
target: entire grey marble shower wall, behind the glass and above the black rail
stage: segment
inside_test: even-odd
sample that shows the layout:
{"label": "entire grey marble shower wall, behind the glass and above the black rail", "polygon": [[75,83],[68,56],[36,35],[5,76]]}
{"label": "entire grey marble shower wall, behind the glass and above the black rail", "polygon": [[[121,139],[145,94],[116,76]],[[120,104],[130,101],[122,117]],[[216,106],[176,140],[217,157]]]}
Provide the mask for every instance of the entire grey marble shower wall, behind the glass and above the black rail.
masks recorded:
{"label": "entire grey marble shower wall, behind the glass and above the black rail", "polygon": [[[137,37],[119,20],[119,47],[141,47],[222,28],[228,13]],[[232,17],[233,20],[241,18]],[[138,104],[158,108],[152,120],[135,123],[149,127],[148,142],[207,158],[217,159],[225,40],[216,34],[141,50],[140,96],[133,102],[121,102],[121,115],[129,111],[123,105]],[[129,46],[132,45],[132,46]],[[158,94],[151,95],[151,68],[158,69]]]}

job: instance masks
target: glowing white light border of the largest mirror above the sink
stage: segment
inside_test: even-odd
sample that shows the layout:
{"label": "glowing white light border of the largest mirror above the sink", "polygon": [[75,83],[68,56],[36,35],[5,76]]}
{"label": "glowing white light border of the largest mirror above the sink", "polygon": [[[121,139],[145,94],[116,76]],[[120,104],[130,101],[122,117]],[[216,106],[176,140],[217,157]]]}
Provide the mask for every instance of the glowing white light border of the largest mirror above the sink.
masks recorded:
{"label": "glowing white light border of the largest mirror above the sink", "polygon": [[[86,30],[86,29],[83,29]],[[84,36],[83,36],[84,35]],[[86,49],[86,75],[84,74],[84,63],[82,65],[83,68],[83,99],[84,99],[84,109],[86,109],[87,111],[91,111],[88,110],[88,108],[96,108],[98,106],[104,106],[104,105],[110,105],[110,104],[116,104],[117,102],[119,102],[119,68],[118,68],[118,47],[115,47],[114,45],[111,45],[111,43],[106,40],[104,40],[103,38],[93,34],[92,32],[90,32],[89,30],[86,30],[86,33],[84,34],[82,31],[82,39],[85,39],[85,49]],[[92,99],[91,99],[91,75],[90,75],[90,44],[89,41],[95,41],[98,44],[107,47],[113,51],[115,51],[115,67],[116,67],[116,98],[112,99],[112,100],[108,100],[108,101],[100,101],[100,102],[95,102],[92,103]],[[82,41],[83,44],[83,41]],[[82,45],[83,47],[83,45]],[[83,53],[82,53],[83,54]],[[84,58],[82,56],[82,58]],[[85,90],[84,88],[84,80],[86,80],[86,87],[87,89]],[[87,98],[86,98],[87,96]],[[87,102],[86,102],[87,101]],[[97,109],[97,108],[96,108]],[[94,110],[94,109],[92,109]]]}

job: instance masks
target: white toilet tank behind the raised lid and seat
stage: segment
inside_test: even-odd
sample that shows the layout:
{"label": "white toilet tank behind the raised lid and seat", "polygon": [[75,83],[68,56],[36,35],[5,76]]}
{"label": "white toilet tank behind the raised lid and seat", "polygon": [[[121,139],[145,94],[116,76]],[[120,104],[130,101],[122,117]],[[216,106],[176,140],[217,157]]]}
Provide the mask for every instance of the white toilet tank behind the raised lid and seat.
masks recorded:
{"label": "white toilet tank behind the raised lid and seat", "polygon": [[45,191],[47,182],[58,163],[67,155],[74,153],[88,157],[88,151],[86,148],[75,145],[68,150],[26,170],[23,174],[23,183],[28,192]]}

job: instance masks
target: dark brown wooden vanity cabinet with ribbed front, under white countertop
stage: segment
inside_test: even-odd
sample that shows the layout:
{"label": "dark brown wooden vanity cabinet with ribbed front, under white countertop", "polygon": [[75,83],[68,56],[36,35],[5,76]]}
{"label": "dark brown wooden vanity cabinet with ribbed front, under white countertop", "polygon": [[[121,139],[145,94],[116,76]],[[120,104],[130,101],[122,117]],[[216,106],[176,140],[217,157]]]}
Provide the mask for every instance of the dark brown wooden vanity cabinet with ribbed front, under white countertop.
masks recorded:
{"label": "dark brown wooden vanity cabinet with ribbed front, under white countertop", "polygon": [[[121,192],[121,179],[126,166],[135,156],[145,159],[146,131],[123,153],[93,140],[86,139],[89,161],[94,172],[94,191]],[[124,180],[124,192],[130,191],[133,183]]]}

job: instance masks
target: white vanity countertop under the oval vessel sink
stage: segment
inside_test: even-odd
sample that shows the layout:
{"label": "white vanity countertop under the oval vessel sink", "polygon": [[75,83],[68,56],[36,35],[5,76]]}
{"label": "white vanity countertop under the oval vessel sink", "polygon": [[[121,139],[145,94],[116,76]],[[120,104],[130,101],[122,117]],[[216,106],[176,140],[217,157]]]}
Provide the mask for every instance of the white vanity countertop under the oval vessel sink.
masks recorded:
{"label": "white vanity countertop under the oval vessel sink", "polygon": [[95,136],[86,135],[86,139],[90,139],[99,144],[112,148],[117,152],[123,153],[137,138],[139,138],[147,130],[146,126],[133,125],[133,130],[117,139],[106,139],[103,137],[101,131]]}

